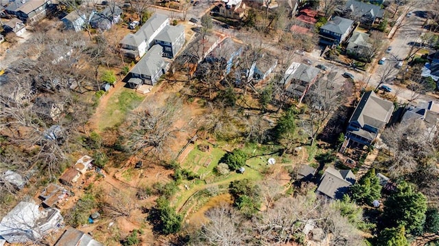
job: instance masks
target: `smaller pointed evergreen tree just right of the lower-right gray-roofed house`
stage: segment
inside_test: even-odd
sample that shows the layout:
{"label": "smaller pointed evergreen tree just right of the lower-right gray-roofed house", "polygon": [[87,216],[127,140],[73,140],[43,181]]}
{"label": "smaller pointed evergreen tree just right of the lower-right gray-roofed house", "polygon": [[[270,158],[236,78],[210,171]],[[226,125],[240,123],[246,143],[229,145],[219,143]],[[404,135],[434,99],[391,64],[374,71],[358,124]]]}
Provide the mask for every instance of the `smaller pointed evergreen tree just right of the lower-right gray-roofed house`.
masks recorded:
{"label": "smaller pointed evergreen tree just right of the lower-right gray-roofed house", "polygon": [[369,205],[381,197],[381,185],[379,185],[375,169],[370,169],[357,183],[351,186],[351,195],[357,203]]}

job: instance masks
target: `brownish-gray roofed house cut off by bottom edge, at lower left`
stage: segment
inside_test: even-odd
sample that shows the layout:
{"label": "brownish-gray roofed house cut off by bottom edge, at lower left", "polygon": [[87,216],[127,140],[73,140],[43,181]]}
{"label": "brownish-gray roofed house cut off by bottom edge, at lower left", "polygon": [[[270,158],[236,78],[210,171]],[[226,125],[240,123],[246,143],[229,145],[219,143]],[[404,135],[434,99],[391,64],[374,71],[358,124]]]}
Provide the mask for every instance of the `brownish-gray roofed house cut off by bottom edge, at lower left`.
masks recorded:
{"label": "brownish-gray roofed house cut off by bottom edge, at lower left", "polygon": [[54,246],[104,246],[102,243],[95,241],[90,235],[69,227],[58,238]]}

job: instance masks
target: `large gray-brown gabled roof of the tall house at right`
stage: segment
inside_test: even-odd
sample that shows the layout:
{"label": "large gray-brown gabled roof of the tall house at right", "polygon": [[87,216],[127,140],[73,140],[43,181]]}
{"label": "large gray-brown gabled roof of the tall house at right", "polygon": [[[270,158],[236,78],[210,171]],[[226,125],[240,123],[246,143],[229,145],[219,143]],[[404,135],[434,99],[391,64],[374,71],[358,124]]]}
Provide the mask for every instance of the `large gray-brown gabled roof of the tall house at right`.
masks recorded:
{"label": "large gray-brown gabled roof of the tall house at right", "polygon": [[371,90],[363,94],[349,122],[357,121],[361,127],[370,125],[381,129],[389,122],[393,109],[391,101],[377,97]]}

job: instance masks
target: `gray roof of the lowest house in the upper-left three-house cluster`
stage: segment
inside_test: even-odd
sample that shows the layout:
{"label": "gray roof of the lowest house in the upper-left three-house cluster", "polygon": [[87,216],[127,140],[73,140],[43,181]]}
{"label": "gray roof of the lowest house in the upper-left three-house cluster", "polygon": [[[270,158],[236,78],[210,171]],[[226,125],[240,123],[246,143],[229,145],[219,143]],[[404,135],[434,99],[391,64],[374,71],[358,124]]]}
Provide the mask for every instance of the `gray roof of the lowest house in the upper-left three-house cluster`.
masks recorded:
{"label": "gray roof of the lowest house in the upper-left three-house cluster", "polygon": [[156,75],[156,73],[163,69],[165,65],[165,60],[162,58],[163,48],[160,45],[154,45],[149,51],[143,56],[136,66],[132,68],[130,73],[144,74],[144,75]]}

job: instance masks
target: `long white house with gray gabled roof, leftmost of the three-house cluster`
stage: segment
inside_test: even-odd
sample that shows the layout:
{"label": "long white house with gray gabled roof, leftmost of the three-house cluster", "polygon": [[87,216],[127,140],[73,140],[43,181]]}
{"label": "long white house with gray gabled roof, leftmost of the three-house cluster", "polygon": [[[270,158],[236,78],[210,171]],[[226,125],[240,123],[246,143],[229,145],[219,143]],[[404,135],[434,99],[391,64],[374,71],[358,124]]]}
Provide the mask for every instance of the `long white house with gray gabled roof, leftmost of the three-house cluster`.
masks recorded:
{"label": "long white house with gray gabled roof, leftmost of the three-house cluster", "polygon": [[121,52],[128,58],[136,59],[145,55],[154,45],[154,38],[169,25],[169,17],[163,14],[154,14],[135,34],[125,36],[119,45]]}

